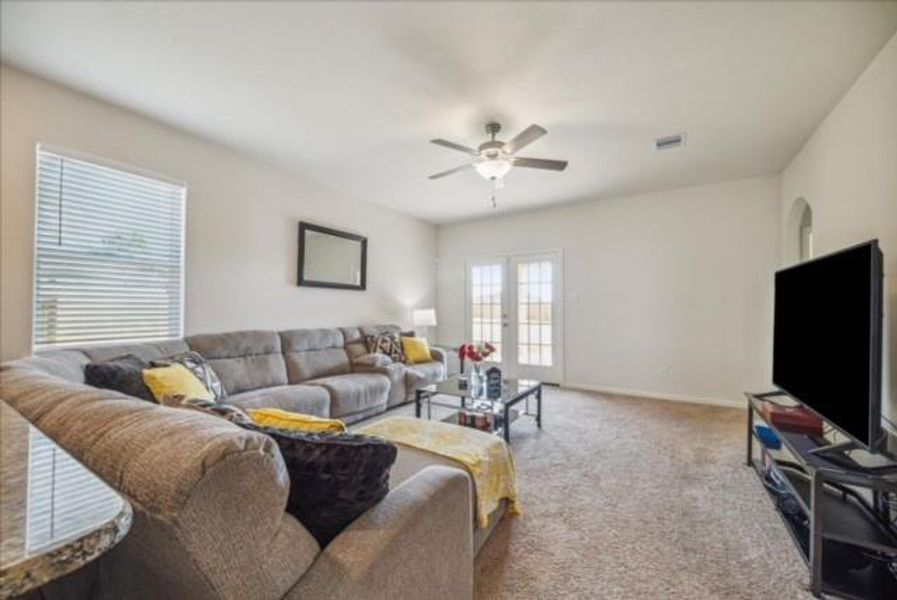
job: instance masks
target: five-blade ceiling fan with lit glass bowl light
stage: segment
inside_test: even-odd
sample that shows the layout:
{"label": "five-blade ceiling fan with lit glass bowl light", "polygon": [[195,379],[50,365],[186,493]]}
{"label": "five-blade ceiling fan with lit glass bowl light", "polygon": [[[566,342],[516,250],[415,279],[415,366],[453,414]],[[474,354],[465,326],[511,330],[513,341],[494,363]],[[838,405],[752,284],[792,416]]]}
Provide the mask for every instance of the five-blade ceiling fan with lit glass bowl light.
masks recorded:
{"label": "five-blade ceiling fan with lit glass bowl light", "polygon": [[524,158],[516,156],[517,152],[529,146],[537,139],[548,133],[543,127],[538,125],[530,125],[515,137],[507,142],[496,140],[495,135],[501,131],[501,125],[498,123],[487,123],[486,133],[492,136],[492,139],[483,142],[477,149],[469,148],[461,144],[449,142],[448,140],[436,139],[430,142],[439,146],[444,146],[452,150],[458,150],[474,157],[474,160],[466,165],[442,171],[435,175],[430,175],[430,179],[440,179],[446,175],[459,173],[466,169],[474,169],[484,179],[498,184],[501,179],[508,174],[512,167],[525,167],[528,169],[548,169],[549,171],[563,171],[567,168],[565,160],[549,160],[546,158]]}

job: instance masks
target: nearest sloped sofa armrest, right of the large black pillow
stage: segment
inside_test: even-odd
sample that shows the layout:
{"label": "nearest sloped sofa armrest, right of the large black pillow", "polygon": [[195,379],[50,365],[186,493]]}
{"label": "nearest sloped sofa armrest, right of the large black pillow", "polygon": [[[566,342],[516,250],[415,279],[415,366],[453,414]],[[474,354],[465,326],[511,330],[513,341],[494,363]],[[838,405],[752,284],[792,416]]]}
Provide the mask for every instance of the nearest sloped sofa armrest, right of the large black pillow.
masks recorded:
{"label": "nearest sloped sofa armrest, right of the large black pillow", "polygon": [[471,506],[467,473],[422,469],[330,542],[287,598],[469,600]]}

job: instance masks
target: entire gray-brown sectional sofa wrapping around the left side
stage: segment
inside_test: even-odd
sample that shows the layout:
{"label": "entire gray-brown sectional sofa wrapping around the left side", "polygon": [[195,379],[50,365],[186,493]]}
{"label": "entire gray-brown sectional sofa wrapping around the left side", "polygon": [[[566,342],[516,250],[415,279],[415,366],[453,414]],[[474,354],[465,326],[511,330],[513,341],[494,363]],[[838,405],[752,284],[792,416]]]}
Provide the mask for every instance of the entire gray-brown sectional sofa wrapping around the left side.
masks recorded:
{"label": "entire gray-brown sectional sofa wrapping around the left side", "polygon": [[473,557],[490,531],[474,531],[471,480],[451,461],[400,448],[387,496],[321,548],[284,510],[289,477],[271,438],[84,383],[91,360],[194,349],[210,360],[234,404],[354,421],[407,400],[416,384],[444,373],[438,352],[432,363],[410,367],[367,356],[362,336],[382,330],[197,335],[53,351],[3,365],[0,398],[134,509],[131,531],[118,546],[50,592],[197,600],[470,598]]}

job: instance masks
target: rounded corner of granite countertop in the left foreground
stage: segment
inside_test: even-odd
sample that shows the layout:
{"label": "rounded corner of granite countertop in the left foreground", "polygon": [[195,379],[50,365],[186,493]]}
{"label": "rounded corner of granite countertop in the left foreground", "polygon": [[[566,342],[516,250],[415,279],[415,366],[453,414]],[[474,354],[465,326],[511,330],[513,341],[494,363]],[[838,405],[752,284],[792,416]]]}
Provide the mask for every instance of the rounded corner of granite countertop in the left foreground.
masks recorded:
{"label": "rounded corner of granite countertop in the left foreground", "polygon": [[100,556],[131,527],[131,505],[0,401],[0,598]]}

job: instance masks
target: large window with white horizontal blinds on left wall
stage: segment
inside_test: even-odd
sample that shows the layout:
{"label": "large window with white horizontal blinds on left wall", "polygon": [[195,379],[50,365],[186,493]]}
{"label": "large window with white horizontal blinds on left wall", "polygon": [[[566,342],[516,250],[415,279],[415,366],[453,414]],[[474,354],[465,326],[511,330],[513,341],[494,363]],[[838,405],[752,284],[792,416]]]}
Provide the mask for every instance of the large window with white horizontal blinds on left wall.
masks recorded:
{"label": "large window with white horizontal blinds on left wall", "polygon": [[180,337],[183,185],[38,149],[34,347]]}

